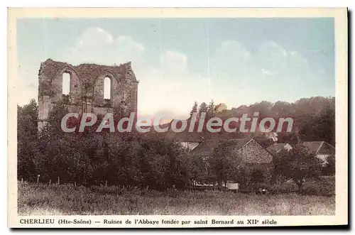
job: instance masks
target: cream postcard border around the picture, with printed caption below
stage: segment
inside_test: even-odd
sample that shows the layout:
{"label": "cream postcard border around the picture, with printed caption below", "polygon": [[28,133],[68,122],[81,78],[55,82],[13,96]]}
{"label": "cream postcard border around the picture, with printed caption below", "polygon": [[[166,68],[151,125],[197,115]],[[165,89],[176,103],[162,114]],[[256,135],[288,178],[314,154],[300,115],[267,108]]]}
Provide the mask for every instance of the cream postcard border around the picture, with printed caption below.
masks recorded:
{"label": "cream postcard border around the picture, with printed caption below", "polygon": [[[16,62],[16,18],[270,18],[270,17],[334,17],[335,31],[335,62],[336,62],[336,213],[334,216],[161,216],[161,215],[130,215],[130,216],[27,216],[17,215],[17,137],[16,137],[16,97],[21,95],[16,90],[17,62]],[[141,225],[125,224],[126,219],[160,220],[174,218],[178,220],[199,219],[274,219],[276,226],[302,226],[302,225],[337,225],[348,223],[348,62],[347,62],[347,10],[344,8],[309,8],[309,9],[9,9],[8,11],[8,226],[9,227],[187,227],[181,224]],[[92,224],[21,224],[21,219],[90,219]],[[121,220],[124,224],[103,224],[103,219]],[[94,221],[101,221],[94,223]],[[193,225],[193,224],[192,224]],[[190,225],[189,227],[196,227]],[[202,224],[206,226],[228,226],[226,224]],[[234,225],[236,226],[236,225]],[[244,224],[244,226],[256,226]],[[265,225],[265,226],[275,226]]]}

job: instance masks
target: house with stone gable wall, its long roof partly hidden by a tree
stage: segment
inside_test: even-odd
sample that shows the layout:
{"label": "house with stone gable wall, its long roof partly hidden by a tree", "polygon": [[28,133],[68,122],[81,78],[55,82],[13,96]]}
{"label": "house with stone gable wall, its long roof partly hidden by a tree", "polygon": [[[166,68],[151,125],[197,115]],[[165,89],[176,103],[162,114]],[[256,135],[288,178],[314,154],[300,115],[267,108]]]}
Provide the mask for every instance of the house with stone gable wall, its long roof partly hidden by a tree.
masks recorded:
{"label": "house with stone gable wall, its long roof partly hidden by a tree", "polygon": [[[247,164],[272,164],[273,155],[269,153],[266,148],[258,143],[254,138],[234,138],[229,141],[234,146],[234,151],[241,153],[241,158],[244,163]],[[221,140],[212,139],[202,141],[192,151],[195,155],[200,155],[202,158],[209,157],[213,155],[214,148],[217,148],[219,144],[222,143]]]}

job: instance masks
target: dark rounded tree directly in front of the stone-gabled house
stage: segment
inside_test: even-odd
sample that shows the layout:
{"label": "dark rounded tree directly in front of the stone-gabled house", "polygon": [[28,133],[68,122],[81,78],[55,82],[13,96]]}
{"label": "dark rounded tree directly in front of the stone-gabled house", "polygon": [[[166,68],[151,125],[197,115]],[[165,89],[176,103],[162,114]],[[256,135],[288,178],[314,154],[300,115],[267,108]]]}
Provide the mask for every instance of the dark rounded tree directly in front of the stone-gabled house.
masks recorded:
{"label": "dark rounded tree directly in front of the stone-gabled house", "polygon": [[234,148],[234,143],[222,142],[217,148],[214,148],[213,155],[208,158],[209,166],[218,182],[219,190],[222,189],[222,181],[236,179],[241,156]]}

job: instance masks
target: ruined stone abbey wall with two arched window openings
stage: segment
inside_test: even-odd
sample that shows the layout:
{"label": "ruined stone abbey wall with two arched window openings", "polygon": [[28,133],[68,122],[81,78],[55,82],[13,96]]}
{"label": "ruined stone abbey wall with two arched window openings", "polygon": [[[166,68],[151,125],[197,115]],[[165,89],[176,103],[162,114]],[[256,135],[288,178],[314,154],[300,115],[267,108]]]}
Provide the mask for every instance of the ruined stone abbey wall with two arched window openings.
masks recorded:
{"label": "ruined stone abbey wall with two arched window openings", "polygon": [[[67,94],[63,91],[64,75],[69,80]],[[38,131],[43,129],[48,113],[58,103],[80,114],[121,111],[126,116],[137,112],[138,81],[131,62],[119,66],[73,66],[48,59],[40,63],[38,83]],[[109,94],[104,94],[107,90]]]}

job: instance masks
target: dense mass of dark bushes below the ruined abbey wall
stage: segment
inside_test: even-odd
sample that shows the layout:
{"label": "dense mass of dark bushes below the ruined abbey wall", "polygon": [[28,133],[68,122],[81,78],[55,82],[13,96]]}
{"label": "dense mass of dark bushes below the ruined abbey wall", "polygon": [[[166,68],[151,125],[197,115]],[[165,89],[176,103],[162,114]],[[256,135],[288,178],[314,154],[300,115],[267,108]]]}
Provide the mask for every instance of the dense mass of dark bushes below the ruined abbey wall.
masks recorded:
{"label": "dense mass of dark bushes below the ruined abbey wall", "polygon": [[165,189],[190,180],[185,150],[168,140],[67,133],[18,146],[18,178],[30,182]]}

